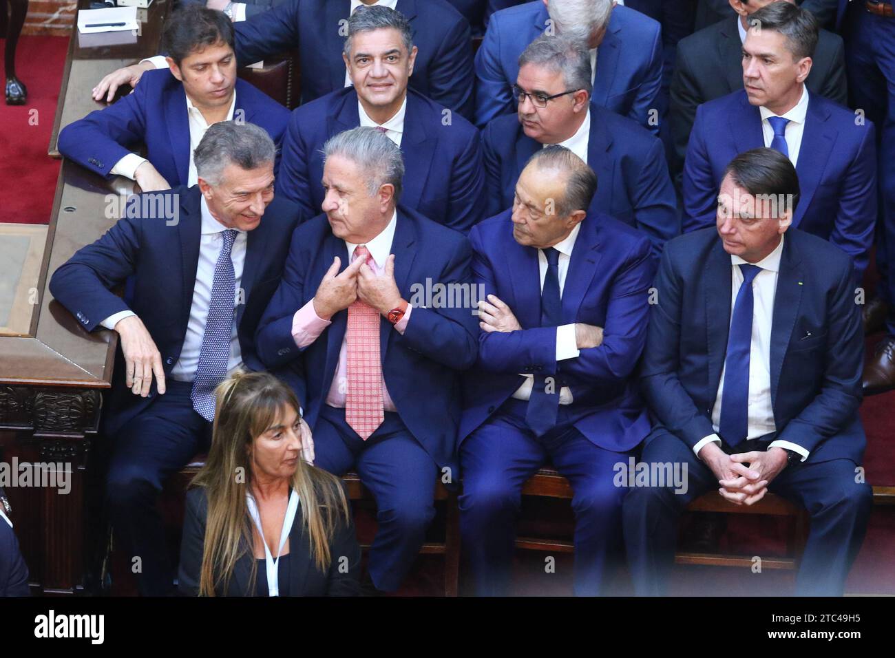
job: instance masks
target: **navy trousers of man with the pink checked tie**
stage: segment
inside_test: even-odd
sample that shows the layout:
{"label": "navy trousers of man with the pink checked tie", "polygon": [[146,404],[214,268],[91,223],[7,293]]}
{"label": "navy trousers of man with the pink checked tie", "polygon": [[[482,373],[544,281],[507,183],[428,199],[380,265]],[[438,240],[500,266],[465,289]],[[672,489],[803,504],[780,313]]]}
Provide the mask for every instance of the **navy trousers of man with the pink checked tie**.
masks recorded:
{"label": "navy trousers of man with the pink checked tie", "polygon": [[422,548],[435,516],[438,465],[392,412],[367,440],[345,423],[345,409],[324,404],[313,428],[314,466],[342,475],[354,468],[376,500],[370,547],[373,585],[394,592]]}

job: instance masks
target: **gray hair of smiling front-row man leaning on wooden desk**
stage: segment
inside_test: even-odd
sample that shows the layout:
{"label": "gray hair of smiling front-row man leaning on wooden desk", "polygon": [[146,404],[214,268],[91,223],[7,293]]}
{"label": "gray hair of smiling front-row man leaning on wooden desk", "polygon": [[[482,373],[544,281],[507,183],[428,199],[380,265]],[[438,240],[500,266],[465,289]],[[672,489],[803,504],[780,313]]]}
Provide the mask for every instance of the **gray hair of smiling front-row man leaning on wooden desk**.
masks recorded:
{"label": "gray hair of smiling front-row man leaning on wooden desk", "polygon": [[273,165],[277,147],[268,132],[255,124],[222,121],[212,124],[192,153],[196,174],[219,185],[227,165],[257,169]]}

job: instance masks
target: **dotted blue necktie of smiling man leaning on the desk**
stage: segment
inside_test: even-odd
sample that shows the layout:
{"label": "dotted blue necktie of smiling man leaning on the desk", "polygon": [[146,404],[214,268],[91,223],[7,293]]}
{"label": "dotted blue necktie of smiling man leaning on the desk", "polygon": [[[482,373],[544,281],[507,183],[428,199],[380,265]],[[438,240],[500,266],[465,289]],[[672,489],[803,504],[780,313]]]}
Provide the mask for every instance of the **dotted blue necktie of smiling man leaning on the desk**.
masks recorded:
{"label": "dotted blue necktie of smiling man leaning on the desk", "polygon": [[222,234],[224,246],[217,256],[215,278],[211,284],[209,316],[205,320],[199,365],[192,380],[192,408],[205,420],[215,417],[215,389],[226,377],[230,361],[230,338],[233,336],[236,277],[230,252],[236,239],[236,231],[228,228]]}

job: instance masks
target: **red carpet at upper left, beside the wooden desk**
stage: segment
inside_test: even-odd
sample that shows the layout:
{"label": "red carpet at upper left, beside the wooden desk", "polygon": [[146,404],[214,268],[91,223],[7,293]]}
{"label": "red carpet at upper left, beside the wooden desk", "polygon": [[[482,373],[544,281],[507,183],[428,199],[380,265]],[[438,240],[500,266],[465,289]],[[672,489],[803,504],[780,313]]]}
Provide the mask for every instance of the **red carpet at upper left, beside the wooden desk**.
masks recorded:
{"label": "red carpet at upper left, beside the wooden desk", "polygon": [[67,49],[66,37],[19,39],[16,73],[28,87],[28,101],[19,106],[0,101],[0,181],[4,181],[0,201],[4,221],[49,223],[60,160],[47,156],[47,146]]}

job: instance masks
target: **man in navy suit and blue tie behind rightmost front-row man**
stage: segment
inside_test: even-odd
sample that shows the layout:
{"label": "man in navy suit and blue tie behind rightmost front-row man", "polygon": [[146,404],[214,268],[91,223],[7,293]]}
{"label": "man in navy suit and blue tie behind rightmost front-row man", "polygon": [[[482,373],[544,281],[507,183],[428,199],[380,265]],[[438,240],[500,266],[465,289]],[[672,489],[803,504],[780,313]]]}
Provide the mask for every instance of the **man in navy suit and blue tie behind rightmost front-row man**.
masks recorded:
{"label": "man in navy suit and blue tie behind rightmost front-row man", "polygon": [[684,163],[684,231],[712,225],[721,178],[737,153],[780,150],[802,189],[793,226],[848,253],[857,286],[876,221],[874,125],[805,88],[817,44],[811,13],[776,2],[752,20],[760,29],[750,29],[743,44],[746,89],[696,110]]}

